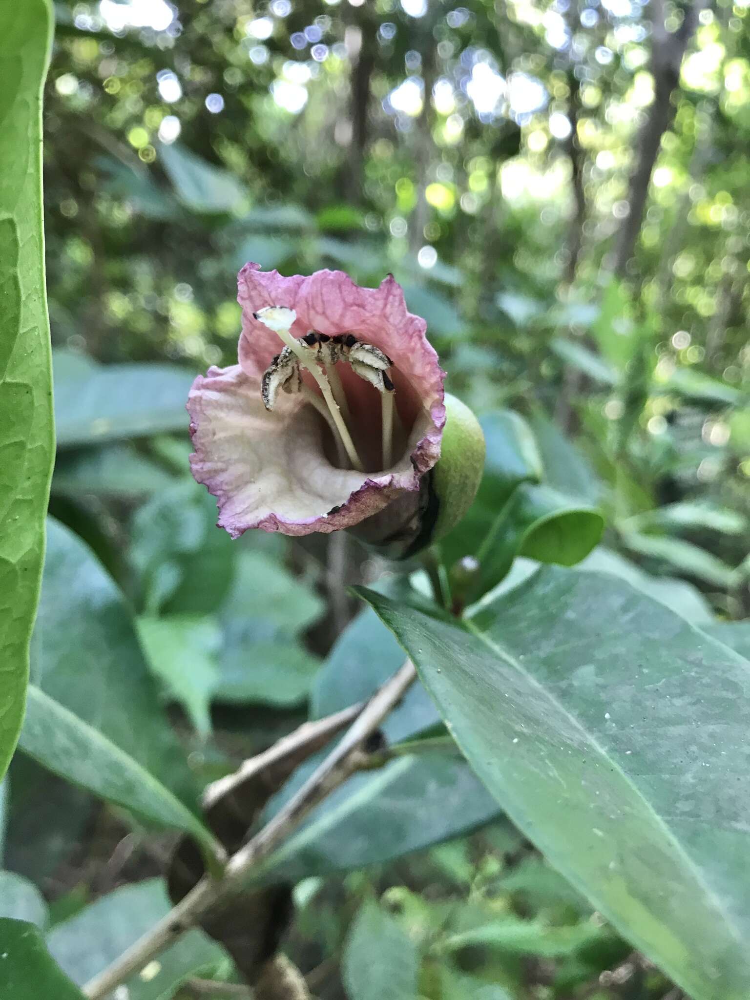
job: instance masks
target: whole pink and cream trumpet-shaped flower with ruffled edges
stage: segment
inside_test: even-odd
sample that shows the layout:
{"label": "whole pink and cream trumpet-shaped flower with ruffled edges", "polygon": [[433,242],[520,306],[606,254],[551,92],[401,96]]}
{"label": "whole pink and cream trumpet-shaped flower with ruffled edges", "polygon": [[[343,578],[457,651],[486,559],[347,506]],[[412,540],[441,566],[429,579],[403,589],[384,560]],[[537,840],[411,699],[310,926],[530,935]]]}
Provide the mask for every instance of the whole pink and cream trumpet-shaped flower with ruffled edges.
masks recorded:
{"label": "whole pink and cream trumpet-shaped flower with ruffled edges", "polygon": [[[238,287],[239,364],[212,367],[198,376],[187,403],[195,448],[192,472],[217,498],[219,525],[233,538],[248,528],[287,535],[330,532],[353,527],[407,494],[418,495],[423,475],[440,455],[445,373],[425,337],[425,321],[407,311],[397,282],[389,276],[379,288],[361,288],[341,271],[285,278],[246,264]],[[351,334],[349,340],[391,363],[385,385],[393,390],[395,412],[388,446],[381,428],[386,418],[381,416],[383,383],[380,391],[376,384],[382,378],[379,369],[363,369],[354,354],[351,361],[342,354],[330,375],[345,397],[342,401],[339,395],[341,413],[363,471],[352,467],[337,442],[311,370],[301,368],[300,377],[286,383],[286,391],[274,396],[272,410],[264,405],[263,375],[278,363],[283,345],[255,314],[274,306],[296,313],[290,330],[295,341],[311,331],[323,334],[323,340]],[[307,348],[311,365],[315,350]],[[285,357],[295,363],[288,353]],[[330,374],[330,367],[318,365],[315,373]],[[374,371],[374,376],[368,380],[357,371]],[[289,388],[292,382],[295,391]],[[390,454],[387,468],[384,454]],[[403,502],[394,505],[399,506]]]}

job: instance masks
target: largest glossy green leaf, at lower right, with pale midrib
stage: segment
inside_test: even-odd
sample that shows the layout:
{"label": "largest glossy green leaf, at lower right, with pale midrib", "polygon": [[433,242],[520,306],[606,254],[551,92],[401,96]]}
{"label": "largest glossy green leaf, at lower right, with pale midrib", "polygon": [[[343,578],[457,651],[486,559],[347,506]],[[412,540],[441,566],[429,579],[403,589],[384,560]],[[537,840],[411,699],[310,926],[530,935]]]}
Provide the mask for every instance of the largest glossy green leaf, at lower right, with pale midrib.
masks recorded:
{"label": "largest glossy green leaf, at lower right, with pale midrib", "polygon": [[750,663],[597,574],[544,568],[470,624],[367,596],[550,861],[694,1000],[744,1000]]}

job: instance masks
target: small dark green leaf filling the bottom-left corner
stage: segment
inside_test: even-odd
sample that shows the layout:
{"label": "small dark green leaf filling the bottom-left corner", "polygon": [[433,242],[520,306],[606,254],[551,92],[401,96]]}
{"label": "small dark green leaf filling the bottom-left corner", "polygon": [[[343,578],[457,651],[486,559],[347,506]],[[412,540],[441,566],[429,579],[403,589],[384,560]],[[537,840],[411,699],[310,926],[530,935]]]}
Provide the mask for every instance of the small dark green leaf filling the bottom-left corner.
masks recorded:
{"label": "small dark green leaf filling the bottom-left corner", "polygon": [[39,928],[0,918],[0,996],[3,1000],[85,1000],[50,958]]}

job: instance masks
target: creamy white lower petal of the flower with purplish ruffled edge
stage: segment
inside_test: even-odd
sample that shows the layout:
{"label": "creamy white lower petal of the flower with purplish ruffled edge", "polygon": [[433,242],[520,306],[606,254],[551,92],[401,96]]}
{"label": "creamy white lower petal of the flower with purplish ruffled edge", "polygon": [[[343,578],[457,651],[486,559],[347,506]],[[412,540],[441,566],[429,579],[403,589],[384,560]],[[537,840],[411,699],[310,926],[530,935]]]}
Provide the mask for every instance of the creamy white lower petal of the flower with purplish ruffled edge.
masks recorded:
{"label": "creamy white lower petal of the flower with purplish ruffled edge", "polygon": [[307,535],[351,527],[418,490],[440,450],[440,432],[423,411],[393,468],[337,469],[323,451],[322,422],[303,399],[282,394],[268,413],[259,377],[239,365],[198,376],[187,408],[193,475],[217,498],[218,523],[233,538],[248,528]]}

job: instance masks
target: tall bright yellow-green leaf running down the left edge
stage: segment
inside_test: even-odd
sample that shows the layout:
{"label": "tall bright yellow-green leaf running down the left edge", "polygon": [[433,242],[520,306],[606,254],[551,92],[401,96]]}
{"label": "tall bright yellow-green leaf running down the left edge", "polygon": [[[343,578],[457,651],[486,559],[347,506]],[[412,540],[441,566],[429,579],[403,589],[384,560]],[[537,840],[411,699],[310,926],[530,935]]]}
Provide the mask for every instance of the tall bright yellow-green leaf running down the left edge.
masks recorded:
{"label": "tall bright yellow-green leaf running down the left edge", "polygon": [[54,454],[42,232],[46,0],[0,7],[0,778],[23,719]]}

